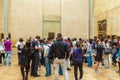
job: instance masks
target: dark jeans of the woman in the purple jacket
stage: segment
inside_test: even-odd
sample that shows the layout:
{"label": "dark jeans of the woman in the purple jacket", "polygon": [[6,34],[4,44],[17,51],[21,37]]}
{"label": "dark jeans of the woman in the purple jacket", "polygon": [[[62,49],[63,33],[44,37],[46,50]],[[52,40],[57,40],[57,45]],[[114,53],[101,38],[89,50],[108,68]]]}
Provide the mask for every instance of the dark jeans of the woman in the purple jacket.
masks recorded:
{"label": "dark jeans of the woman in the purple jacket", "polygon": [[83,77],[83,62],[74,60],[74,76],[75,76],[75,80],[78,80],[78,73],[77,73],[78,68],[79,68],[79,72],[80,72],[79,79],[82,79],[82,77]]}

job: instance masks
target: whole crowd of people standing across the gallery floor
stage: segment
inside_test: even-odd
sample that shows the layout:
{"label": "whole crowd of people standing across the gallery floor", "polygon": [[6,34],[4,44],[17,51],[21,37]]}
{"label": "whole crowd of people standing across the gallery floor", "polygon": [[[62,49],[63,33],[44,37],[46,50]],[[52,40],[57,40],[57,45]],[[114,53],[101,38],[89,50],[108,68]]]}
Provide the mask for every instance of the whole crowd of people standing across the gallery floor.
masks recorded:
{"label": "whole crowd of people standing across the gallery floor", "polygon": [[[9,38],[0,40],[0,65],[2,62],[4,66],[12,64],[11,45]],[[52,75],[51,65],[54,66],[55,80],[59,80],[59,74],[64,75],[64,80],[69,80],[68,70],[74,66],[75,80],[82,80],[83,63],[87,63],[88,67],[94,66],[95,73],[99,74],[101,66],[110,67],[110,58],[112,65],[119,68],[117,73],[120,73],[120,40],[117,39],[77,40],[63,37],[58,33],[56,39],[41,39],[40,36],[36,36],[25,41],[19,38],[15,46],[18,49],[18,65],[22,80],[28,80],[29,72],[33,77],[40,77],[38,69],[41,65],[45,66],[46,77]]]}

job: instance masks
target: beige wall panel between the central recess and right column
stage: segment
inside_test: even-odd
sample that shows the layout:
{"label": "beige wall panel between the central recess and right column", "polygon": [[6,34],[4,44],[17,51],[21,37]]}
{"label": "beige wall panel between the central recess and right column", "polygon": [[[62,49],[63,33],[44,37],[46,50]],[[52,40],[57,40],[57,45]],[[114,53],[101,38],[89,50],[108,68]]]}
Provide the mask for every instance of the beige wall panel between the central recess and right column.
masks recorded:
{"label": "beige wall panel between the central recess and right column", "polygon": [[88,38],[89,0],[62,0],[61,31],[64,36]]}

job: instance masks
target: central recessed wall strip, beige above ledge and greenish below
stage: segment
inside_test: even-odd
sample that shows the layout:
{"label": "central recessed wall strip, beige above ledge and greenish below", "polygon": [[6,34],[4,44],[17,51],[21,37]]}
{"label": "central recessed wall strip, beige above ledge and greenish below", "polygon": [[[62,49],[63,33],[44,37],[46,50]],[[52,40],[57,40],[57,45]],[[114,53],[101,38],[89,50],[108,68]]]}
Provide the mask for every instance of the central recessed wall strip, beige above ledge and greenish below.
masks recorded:
{"label": "central recessed wall strip, beige above ledge and greenish below", "polygon": [[60,32],[61,0],[43,0],[43,38]]}

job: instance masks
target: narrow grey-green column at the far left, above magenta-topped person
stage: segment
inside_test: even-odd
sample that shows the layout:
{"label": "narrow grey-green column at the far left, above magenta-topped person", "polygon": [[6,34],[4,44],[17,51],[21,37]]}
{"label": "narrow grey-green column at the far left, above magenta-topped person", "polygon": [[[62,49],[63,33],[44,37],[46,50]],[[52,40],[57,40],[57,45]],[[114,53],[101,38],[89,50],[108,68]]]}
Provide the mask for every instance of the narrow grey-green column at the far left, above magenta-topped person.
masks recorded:
{"label": "narrow grey-green column at the far left, above magenta-topped person", "polygon": [[4,38],[8,37],[8,0],[4,0]]}

